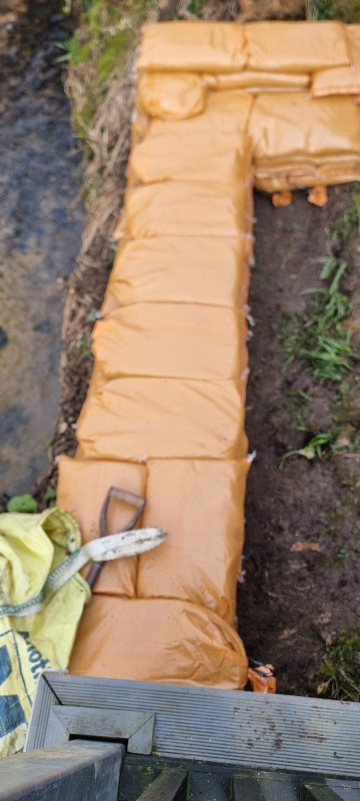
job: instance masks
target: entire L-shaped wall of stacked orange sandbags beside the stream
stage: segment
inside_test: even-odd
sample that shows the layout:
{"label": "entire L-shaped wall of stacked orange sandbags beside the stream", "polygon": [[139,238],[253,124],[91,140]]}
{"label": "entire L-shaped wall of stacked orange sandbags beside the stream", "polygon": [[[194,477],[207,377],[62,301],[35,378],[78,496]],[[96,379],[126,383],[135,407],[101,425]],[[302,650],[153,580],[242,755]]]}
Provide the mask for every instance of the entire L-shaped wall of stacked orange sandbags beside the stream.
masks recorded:
{"label": "entire L-shaped wall of stacked orange sandbags beside the stream", "polygon": [[[327,88],[326,88],[327,87]],[[337,91],[335,91],[335,89]],[[111,485],[166,543],[103,566],[70,672],[242,689],[236,632],[253,186],[360,178],[360,26],[144,27],[118,252],[60,507],[98,535]],[[132,510],[112,501],[109,533]]]}

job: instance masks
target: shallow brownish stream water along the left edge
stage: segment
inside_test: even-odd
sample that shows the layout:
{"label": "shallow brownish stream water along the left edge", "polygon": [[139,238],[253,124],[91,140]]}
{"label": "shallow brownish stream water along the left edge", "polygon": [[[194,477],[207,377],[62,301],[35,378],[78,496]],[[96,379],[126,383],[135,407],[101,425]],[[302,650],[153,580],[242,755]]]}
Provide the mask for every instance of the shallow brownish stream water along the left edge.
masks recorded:
{"label": "shallow brownish stream water along the left edge", "polygon": [[64,281],[81,244],[80,151],[55,42],[57,2],[0,0],[0,496],[47,466]]}

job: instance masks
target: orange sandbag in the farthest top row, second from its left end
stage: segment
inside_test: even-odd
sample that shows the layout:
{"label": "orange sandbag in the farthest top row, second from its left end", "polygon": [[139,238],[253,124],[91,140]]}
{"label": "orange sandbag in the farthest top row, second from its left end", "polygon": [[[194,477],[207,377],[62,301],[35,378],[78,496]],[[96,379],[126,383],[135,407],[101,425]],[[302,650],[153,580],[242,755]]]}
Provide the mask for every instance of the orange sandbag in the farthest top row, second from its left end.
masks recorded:
{"label": "orange sandbag in the farthest top row, second from its left end", "polygon": [[350,64],[341,22],[250,22],[244,27],[249,70],[291,74]]}

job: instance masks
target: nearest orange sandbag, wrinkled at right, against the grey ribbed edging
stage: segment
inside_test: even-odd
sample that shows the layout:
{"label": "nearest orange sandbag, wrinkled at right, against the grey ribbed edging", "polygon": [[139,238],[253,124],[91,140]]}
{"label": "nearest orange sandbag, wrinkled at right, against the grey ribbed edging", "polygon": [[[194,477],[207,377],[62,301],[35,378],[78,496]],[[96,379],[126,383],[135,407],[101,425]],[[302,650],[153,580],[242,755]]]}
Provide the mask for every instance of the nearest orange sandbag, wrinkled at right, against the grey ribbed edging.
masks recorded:
{"label": "nearest orange sandbag, wrinkled at right, against the grey ribbed edging", "polygon": [[242,690],[248,662],[234,628],[201,606],[94,595],[84,610],[71,674]]}

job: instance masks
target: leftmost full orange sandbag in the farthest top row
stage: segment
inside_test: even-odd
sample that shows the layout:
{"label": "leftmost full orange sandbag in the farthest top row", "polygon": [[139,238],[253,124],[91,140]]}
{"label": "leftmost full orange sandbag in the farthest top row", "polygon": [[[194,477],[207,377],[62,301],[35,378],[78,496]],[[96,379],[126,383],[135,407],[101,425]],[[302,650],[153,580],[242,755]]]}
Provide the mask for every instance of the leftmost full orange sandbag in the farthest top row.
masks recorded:
{"label": "leftmost full orange sandbag in the farthest top row", "polygon": [[142,28],[138,69],[233,72],[246,64],[244,45],[234,22],[156,22]]}

